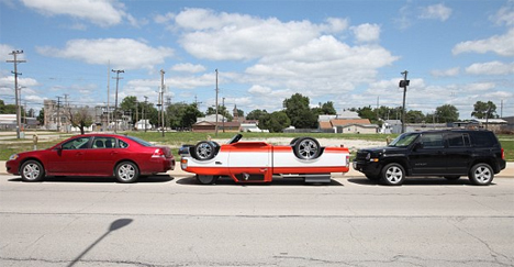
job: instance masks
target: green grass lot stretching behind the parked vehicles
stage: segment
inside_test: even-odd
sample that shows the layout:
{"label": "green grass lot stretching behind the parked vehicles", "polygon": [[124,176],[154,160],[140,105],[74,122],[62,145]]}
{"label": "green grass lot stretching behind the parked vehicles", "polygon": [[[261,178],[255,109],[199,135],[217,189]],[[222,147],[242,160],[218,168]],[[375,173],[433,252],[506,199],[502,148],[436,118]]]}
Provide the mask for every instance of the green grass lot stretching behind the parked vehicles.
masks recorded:
{"label": "green grass lot stretching behind the parked vehicles", "polygon": [[[125,133],[121,133],[125,134]],[[172,147],[174,155],[177,156],[178,147],[183,144],[194,145],[200,141],[206,140],[211,136],[215,140],[228,140],[235,135],[235,133],[222,133],[217,136],[214,133],[191,133],[191,132],[166,132],[165,136],[161,136],[160,132],[126,132],[126,134],[155,142],[158,144],[167,145]],[[312,136],[315,138],[337,138],[337,140],[367,140],[367,141],[384,141],[388,135],[384,134],[326,134],[326,133],[303,133],[303,134],[286,134],[286,133],[243,133],[243,140],[257,138],[266,140],[271,137],[286,137],[293,138],[299,136]],[[391,134],[390,137],[394,138],[398,135]],[[514,162],[514,136],[513,135],[499,135],[500,143],[505,151],[505,159],[507,162]],[[65,140],[66,137],[59,137],[53,141],[38,142],[37,149],[48,148],[55,145],[57,142]],[[0,160],[9,159],[9,156],[15,153],[32,151],[33,143],[30,140],[9,140],[0,142]]]}

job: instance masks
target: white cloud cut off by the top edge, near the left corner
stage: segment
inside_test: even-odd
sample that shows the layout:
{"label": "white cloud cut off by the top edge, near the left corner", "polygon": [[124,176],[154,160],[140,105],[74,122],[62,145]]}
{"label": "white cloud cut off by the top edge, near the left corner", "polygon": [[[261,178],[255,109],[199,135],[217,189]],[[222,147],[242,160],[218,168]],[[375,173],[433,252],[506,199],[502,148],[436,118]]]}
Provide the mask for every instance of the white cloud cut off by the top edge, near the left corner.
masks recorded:
{"label": "white cloud cut off by the top edge, near the left corner", "polygon": [[122,22],[124,4],[116,0],[21,0],[25,7],[45,15],[70,15],[101,26]]}

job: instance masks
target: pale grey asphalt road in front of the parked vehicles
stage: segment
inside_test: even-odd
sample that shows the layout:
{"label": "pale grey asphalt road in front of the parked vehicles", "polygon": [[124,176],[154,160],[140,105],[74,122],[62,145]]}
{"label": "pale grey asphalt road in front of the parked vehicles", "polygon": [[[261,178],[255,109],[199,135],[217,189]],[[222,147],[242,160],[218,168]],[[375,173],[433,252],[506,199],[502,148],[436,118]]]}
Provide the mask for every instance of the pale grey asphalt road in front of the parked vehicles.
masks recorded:
{"label": "pale grey asphalt road in front of the parked vehicles", "polygon": [[514,179],[0,176],[0,266],[513,266]]}

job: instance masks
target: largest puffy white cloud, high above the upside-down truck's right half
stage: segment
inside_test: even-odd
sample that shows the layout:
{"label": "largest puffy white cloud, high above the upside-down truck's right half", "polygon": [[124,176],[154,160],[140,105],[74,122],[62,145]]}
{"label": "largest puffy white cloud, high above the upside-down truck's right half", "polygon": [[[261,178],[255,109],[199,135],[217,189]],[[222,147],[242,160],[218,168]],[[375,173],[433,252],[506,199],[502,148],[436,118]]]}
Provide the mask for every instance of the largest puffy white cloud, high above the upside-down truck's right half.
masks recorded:
{"label": "largest puffy white cloud, high above the upside-down truck's right half", "polygon": [[265,56],[245,73],[268,87],[336,94],[372,81],[377,68],[396,59],[380,46],[353,47],[325,35],[282,55]]}

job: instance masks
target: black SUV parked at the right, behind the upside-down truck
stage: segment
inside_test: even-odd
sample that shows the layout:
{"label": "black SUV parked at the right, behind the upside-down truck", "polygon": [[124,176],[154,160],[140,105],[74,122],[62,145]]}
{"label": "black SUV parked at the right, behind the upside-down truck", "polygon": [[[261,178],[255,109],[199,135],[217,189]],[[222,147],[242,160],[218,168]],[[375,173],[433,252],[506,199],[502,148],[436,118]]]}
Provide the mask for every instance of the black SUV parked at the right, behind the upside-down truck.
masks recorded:
{"label": "black SUV parked at the right, behind the upside-down truck", "polygon": [[404,133],[386,147],[362,148],[354,169],[370,180],[400,186],[405,176],[468,176],[478,186],[491,183],[505,168],[505,156],[491,131],[447,130]]}

